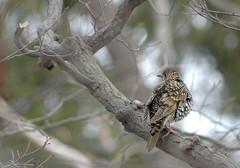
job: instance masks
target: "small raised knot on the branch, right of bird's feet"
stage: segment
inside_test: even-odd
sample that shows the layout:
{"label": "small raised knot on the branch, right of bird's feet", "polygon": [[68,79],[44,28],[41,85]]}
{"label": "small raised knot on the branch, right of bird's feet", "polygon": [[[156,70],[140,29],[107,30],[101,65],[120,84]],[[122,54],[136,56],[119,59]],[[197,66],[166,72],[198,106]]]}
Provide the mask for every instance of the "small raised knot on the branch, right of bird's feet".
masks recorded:
{"label": "small raised knot on the branch, right of bird's feet", "polygon": [[200,144],[200,138],[198,136],[194,136],[192,138],[185,138],[179,144],[179,148],[182,152],[186,153],[191,150],[194,146]]}

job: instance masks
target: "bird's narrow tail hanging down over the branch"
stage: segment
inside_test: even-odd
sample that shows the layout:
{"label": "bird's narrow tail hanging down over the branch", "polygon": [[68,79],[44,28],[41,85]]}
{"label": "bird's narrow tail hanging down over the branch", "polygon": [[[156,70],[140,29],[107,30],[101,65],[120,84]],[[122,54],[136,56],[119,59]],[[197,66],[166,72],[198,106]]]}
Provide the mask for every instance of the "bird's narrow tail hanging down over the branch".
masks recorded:
{"label": "bird's narrow tail hanging down over the branch", "polygon": [[156,123],[151,123],[151,131],[148,136],[146,149],[150,152],[157,144],[159,134],[163,129],[164,120],[158,120]]}

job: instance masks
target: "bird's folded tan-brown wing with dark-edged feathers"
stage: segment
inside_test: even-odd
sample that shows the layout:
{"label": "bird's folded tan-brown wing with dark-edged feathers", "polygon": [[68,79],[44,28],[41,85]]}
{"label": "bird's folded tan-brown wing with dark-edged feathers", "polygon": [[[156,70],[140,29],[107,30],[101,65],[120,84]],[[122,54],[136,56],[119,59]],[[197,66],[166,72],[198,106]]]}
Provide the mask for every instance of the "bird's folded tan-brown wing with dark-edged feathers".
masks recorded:
{"label": "bird's folded tan-brown wing with dark-edged feathers", "polygon": [[166,81],[165,87],[161,89],[164,90],[161,91],[163,94],[159,102],[159,109],[151,117],[151,123],[169,116],[187,99],[186,86],[181,80]]}

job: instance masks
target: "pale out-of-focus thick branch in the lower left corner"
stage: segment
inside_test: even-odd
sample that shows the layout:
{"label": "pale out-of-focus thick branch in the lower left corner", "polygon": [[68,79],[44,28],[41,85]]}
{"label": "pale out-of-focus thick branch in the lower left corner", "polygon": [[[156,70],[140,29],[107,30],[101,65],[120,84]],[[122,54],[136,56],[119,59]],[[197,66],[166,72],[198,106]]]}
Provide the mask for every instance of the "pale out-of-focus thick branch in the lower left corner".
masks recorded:
{"label": "pale out-of-focus thick branch in the lower left corner", "polygon": [[[16,114],[13,109],[0,97],[0,117],[13,124],[19,131],[31,139],[38,146],[42,146],[46,141],[46,133],[39,130],[35,125],[30,124],[24,118]],[[81,152],[69,147],[55,138],[51,138],[51,144],[45,147],[45,150],[54,153],[56,157],[62,159],[65,163],[76,167],[92,168],[91,161]],[[63,152],[64,151],[64,152]]]}

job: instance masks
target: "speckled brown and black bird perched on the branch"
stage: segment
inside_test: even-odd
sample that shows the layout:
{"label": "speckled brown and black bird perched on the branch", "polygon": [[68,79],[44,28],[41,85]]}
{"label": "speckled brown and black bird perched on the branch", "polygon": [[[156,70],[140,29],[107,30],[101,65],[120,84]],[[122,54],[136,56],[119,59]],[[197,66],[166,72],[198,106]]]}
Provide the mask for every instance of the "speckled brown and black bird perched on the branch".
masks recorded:
{"label": "speckled brown and black bird perched on the branch", "polygon": [[167,68],[161,75],[162,82],[155,86],[145,105],[144,120],[150,118],[150,133],[146,149],[151,151],[158,141],[159,135],[165,127],[168,132],[180,135],[171,128],[170,123],[186,117],[193,105],[192,94],[180,77],[176,69]]}

